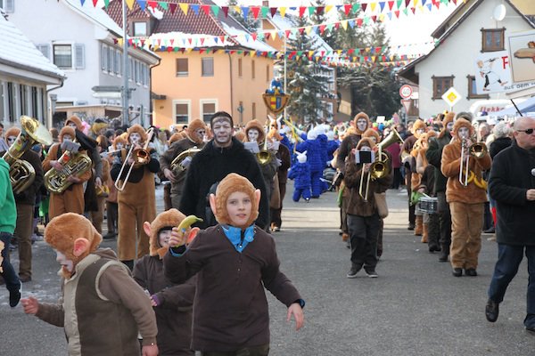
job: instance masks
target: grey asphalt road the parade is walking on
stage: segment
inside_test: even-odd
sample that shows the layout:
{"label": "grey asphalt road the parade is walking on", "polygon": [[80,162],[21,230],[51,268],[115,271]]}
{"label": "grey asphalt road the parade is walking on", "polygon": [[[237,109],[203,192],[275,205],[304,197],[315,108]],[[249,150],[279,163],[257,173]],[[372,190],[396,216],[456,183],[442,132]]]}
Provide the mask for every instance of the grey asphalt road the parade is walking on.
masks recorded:
{"label": "grey asphalt road the parade is walking on", "polygon": [[[292,183],[290,183],[292,184]],[[161,190],[158,190],[161,194]],[[507,290],[496,323],[485,320],[486,291],[497,246],[482,235],[479,276],[451,276],[449,263],[427,252],[407,231],[406,194],[388,191],[384,253],[378,279],[366,274],[347,279],[350,253],[338,234],[335,194],[309,203],[284,201],[284,223],[275,232],[281,269],[305,298],[305,327],[286,322],[286,308],[268,294],[271,355],[531,355],[535,335],[523,328],[527,264]],[[161,199],[157,198],[158,204]],[[159,211],[161,206],[159,206]],[[526,222],[527,223],[527,222]],[[104,247],[115,247],[105,241]],[[12,262],[18,265],[17,254]],[[34,245],[34,278],[22,295],[54,302],[60,294],[55,254],[44,242]],[[2,356],[66,355],[61,328],[10,308],[0,288]]]}

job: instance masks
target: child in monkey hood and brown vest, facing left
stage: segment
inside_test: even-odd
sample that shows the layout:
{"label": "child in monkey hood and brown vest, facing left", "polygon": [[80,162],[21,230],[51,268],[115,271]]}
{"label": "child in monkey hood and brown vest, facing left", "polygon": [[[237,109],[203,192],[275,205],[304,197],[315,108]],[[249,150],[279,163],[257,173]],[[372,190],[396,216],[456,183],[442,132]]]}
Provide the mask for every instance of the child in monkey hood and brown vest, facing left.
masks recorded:
{"label": "child in monkey hood and brown vest, facing left", "polygon": [[65,329],[70,355],[156,356],[156,319],[149,298],[83,215],[67,213],[46,225],[45,241],[62,265],[57,304],[22,299],[27,314]]}

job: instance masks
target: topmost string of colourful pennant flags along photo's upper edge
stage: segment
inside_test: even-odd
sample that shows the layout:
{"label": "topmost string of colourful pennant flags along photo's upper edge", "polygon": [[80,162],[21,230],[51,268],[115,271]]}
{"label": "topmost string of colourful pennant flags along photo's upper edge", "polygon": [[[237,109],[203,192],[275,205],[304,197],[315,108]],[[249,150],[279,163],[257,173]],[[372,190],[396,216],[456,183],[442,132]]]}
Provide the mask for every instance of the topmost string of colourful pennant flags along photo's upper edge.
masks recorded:
{"label": "topmost string of colourful pennant flags along photo's upper edge", "polygon": [[[281,17],[285,16],[285,13],[290,10],[292,12],[299,12],[299,16],[312,16],[317,15],[327,15],[329,12],[337,11],[343,12],[346,16],[351,14],[357,14],[358,12],[374,14],[376,15],[385,15],[388,14],[389,17],[395,15],[399,17],[399,14],[403,13],[407,15],[409,12],[413,14],[418,11],[432,11],[433,9],[439,10],[440,6],[448,6],[449,4],[457,5],[457,2],[466,2],[466,0],[386,0],[386,1],[371,1],[371,2],[360,2],[355,4],[337,4],[337,5],[326,5],[326,6],[278,6],[278,7],[268,7],[268,6],[258,6],[258,5],[249,5],[249,6],[218,6],[216,4],[191,4],[191,3],[176,3],[169,1],[147,1],[147,0],[123,0],[126,1],[128,9],[132,10],[134,3],[138,4],[142,10],[145,10],[147,7],[156,9],[161,7],[162,10],[168,10],[171,14],[177,12],[177,9],[180,9],[186,15],[190,12],[193,12],[195,15],[199,14],[200,9],[206,14],[211,12],[214,16],[218,17],[219,12],[223,12],[225,16],[228,16],[228,11],[230,9],[234,10],[237,13],[240,13],[243,18],[247,18],[249,15],[254,20],[259,19],[259,16],[266,17],[268,14],[271,17],[275,16],[278,12]],[[80,4],[86,3],[86,0],[80,0]],[[93,6],[95,7],[98,4],[98,1],[93,0]],[[110,0],[104,0],[104,7],[108,8]]]}

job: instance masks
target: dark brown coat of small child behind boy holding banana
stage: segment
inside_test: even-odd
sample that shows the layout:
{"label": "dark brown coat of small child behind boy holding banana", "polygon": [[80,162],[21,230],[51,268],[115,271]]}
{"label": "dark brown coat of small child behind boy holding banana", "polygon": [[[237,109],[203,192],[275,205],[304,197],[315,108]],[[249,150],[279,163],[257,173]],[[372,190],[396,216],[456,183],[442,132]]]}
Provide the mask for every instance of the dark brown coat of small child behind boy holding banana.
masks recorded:
{"label": "dark brown coat of small child behind boy holding banana", "polygon": [[159,355],[193,355],[190,343],[197,279],[193,277],[185,284],[173,285],[163,274],[163,261],[159,255],[144,255],[137,260],[133,277],[158,300],[158,306],[153,309],[158,324]]}

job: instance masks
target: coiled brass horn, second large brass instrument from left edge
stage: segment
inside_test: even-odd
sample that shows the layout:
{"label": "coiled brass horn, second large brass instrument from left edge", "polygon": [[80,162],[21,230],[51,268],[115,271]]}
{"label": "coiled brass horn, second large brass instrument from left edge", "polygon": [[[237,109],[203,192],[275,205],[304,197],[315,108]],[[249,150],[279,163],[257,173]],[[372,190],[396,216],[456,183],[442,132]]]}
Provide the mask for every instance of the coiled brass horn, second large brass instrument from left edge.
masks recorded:
{"label": "coiled brass horn, second large brass instrument from left edge", "polygon": [[91,158],[87,157],[85,153],[65,150],[62,157],[58,158],[63,168],[58,171],[52,168],[45,174],[45,187],[47,190],[56,194],[62,194],[63,191],[70,187],[72,182],[67,178],[70,175],[80,176],[85,174],[92,166]]}

